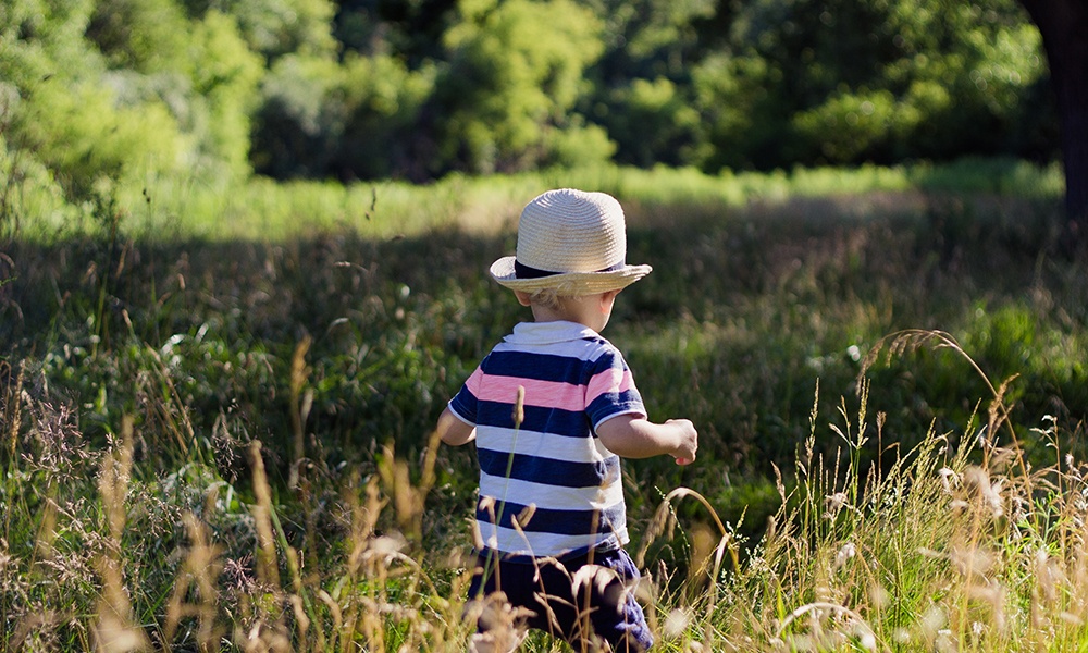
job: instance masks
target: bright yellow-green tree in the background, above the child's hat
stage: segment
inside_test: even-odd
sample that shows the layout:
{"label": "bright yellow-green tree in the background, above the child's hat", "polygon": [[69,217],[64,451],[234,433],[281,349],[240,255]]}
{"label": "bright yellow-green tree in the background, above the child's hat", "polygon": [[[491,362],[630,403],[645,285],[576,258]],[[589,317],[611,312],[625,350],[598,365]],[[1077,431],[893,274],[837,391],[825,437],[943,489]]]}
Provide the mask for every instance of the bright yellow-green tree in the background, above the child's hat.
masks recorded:
{"label": "bright yellow-green tree in the background, above the child's hat", "polygon": [[601,54],[599,23],[568,0],[477,4],[462,5],[465,20],[446,36],[442,155],[469,172],[532,168],[547,156],[545,130],[564,125]]}

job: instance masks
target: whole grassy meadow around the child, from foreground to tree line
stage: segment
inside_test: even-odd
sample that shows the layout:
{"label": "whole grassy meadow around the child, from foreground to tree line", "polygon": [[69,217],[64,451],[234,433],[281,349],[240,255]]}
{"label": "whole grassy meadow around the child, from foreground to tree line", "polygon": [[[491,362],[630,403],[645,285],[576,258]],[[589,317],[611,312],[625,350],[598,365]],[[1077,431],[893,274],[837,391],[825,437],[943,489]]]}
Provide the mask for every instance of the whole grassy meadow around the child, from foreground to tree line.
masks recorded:
{"label": "whole grassy meadow around the child, from foreground to tree line", "polygon": [[701,433],[625,464],[658,650],[1088,646],[1088,278],[1005,160],[5,196],[5,646],[465,650],[477,470],[431,427],[565,185],[623,204],[654,272],[606,335]]}

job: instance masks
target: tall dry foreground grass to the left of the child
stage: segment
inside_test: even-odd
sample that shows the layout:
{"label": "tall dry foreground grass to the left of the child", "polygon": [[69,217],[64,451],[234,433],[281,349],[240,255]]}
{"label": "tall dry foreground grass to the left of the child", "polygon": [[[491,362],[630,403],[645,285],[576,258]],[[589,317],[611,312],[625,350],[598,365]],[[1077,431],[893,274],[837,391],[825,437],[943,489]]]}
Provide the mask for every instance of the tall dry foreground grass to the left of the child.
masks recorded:
{"label": "tall dry foreground grass to the left of the child", "polygon": [[456,552],[420,545],[433,454],[419,483],[390,449],[337,488],[297,460],[290,523],[260,441],[235,442],[247,488],[195,458],[156,478],[132,419],[95,451],[39,392],[16,374],[3,393],[4,650],[461,648]]}

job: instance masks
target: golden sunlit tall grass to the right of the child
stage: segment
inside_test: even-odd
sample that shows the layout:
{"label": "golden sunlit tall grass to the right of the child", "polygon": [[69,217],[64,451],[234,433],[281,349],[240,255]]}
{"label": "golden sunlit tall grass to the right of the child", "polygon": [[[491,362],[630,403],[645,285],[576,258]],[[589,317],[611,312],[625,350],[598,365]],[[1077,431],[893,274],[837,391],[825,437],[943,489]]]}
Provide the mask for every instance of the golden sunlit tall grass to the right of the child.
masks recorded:
{"label": "golden sunlit tall grass to the right of the child", "polygon": [[[944,333],[903,332],[882,345],[892,355],[953,348],[981,373]],[[716,529],[690,533],[695,564],[658,611],[670,648],[1085,650],[1088,464],[1060,451],[1056,418],[1048,416],[1036,433],[1053,460],[1033,467],[1007,420],[1005,385],[990,385],[977,422],[959,434],[930,430],[900,452],[882,441],[882,414],[868,423],[867,382],[860,387],[856,412],[843,401],[841,421],[827,424],[841,444],[829,459],[814,453],[817,384],[795,482],[779,475],[782,507],[749,555],[716,517]],[[870,438],[893,455],[887,469],[858,466],[856,452]],[[713,512],[691,490],[667,498],[689,497]],[[675,515],[671,503],[663,505],[651,534],[676,527]]]}

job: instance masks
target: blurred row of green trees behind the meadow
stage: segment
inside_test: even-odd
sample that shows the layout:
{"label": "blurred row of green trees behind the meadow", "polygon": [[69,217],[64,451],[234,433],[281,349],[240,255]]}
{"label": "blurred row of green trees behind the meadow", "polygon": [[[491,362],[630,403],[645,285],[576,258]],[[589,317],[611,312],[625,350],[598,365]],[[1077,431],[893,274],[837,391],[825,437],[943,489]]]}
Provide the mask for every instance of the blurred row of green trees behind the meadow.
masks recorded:
{"label": "blurred row of green trees behind the meadow", "polygon": [[1060,158],[1017,0],[2,0],[0,175]]}

